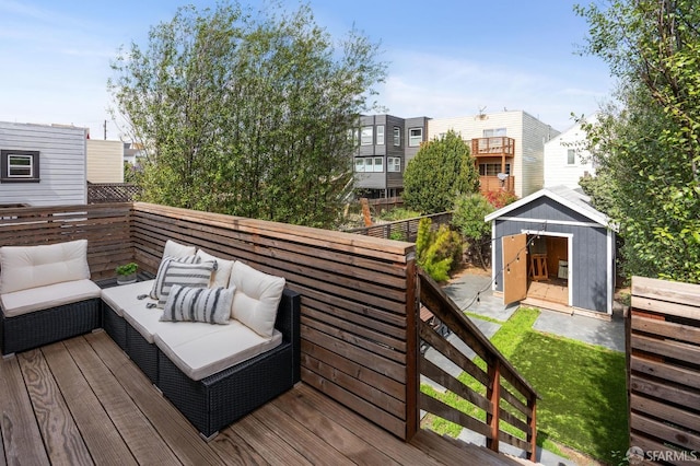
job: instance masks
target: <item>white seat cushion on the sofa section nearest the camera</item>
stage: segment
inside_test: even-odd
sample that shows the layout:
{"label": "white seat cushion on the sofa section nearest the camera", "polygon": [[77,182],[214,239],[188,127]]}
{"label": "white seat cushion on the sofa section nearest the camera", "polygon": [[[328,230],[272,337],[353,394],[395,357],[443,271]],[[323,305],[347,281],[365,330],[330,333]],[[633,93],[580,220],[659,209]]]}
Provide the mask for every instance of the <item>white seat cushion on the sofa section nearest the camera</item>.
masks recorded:
{"label": "white seat cushion on the sofa section nearest the camera", "polygon": [[282,342],[277,329],[265,338],[237,321],[217,326],[205,323],[161,323],[155,345],[194,381],[269,351]]}

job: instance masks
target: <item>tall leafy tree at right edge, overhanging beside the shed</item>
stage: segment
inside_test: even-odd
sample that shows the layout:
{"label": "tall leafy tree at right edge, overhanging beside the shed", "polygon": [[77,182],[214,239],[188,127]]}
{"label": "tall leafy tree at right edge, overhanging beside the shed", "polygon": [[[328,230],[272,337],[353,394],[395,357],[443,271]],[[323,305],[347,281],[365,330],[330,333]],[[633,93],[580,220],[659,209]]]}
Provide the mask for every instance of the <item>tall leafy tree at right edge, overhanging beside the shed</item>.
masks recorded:
{"label": "tall leafy tree at right edge, overhanging beside the shed", "polygon": [[[628,276],[700,282],[700,9],[691,0],[576,7],[584,53],[619,79],[587,125],[599,208],[620,225]],[[585,184],[585,183],[584,183]]]}

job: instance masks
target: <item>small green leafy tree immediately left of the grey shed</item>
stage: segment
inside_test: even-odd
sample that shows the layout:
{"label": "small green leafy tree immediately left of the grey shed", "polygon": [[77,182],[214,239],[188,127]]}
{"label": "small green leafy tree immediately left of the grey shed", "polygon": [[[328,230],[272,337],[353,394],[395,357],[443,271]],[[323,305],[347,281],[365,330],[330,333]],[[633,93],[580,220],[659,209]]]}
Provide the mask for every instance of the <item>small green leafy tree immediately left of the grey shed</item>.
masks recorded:
{"label": "small green leafy tree immediately left of the grey shed", "polygon": [[452,225],[462,233],[468,244],[469,256],[478,257],[481,267],[486,270],[482,248],[485,244],[490,244],[491,223],[485,222],[483,218],[495,209],[480,194],[460,195],[455,201],[454,213],[452,214]]}

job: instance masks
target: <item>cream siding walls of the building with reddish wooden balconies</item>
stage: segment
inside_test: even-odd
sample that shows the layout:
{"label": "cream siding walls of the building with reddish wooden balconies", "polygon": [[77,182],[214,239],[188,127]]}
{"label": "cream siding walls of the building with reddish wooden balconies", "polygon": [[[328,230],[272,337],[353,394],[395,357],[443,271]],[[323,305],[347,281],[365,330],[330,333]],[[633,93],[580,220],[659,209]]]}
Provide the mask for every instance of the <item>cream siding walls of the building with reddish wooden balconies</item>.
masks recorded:
{"label": "cream siding walls of the building with reddish wooden balconies", "polygon": [[451,129],[468,142],[490,137],[513,139],[514,154],[506,163],[512,165],[510,175],[514,178],[514,194],[524,197],[542,187],[545,142],[559,135],[550,125],[523,110],[434,118],[428,121],[428,140]]}

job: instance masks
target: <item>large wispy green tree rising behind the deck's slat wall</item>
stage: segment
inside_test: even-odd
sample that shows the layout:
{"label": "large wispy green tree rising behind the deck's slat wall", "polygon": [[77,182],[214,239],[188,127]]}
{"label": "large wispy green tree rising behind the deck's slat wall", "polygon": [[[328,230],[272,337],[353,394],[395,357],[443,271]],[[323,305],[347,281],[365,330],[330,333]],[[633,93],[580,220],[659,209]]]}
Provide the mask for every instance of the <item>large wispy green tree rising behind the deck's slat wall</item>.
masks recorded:
{"label": "large wispy green tree rising behind the deck's slat wall", "polygon": [[[145,144],[144,200],[332,226],[350,191],[347,131],[384,78],[377,46],[340,46],[308,5],[185,7],[113,63],[116,107]],[[279,4],[277,5],[280,7]]]}

